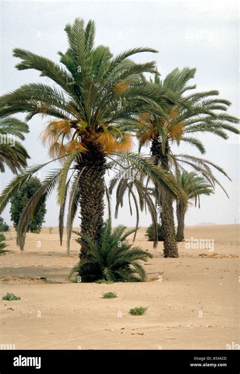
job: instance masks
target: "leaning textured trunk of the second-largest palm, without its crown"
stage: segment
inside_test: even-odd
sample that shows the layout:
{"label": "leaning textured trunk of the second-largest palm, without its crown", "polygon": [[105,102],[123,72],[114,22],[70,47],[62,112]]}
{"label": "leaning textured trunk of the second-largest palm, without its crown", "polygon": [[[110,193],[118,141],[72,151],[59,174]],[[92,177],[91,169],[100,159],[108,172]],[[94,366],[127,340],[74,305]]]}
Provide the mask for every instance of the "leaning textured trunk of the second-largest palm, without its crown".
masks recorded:
{"label": "leaning textured trunk of the second-largest palm, without its crown", "polygon": [[[151,154],[155,158],[155,164],[160,164],[163,169],[170,171],[168,160],[169,146],[166,146],[166,152],[163,154],[162,144],[155,138],[151,144]],[[161,207],[161,223],[164,239],[164,257],[178,257],[178,247],[176,241],[173,201],[171,196],[164,190],[158,194],[158,186],[156,188],[157,202]]]}

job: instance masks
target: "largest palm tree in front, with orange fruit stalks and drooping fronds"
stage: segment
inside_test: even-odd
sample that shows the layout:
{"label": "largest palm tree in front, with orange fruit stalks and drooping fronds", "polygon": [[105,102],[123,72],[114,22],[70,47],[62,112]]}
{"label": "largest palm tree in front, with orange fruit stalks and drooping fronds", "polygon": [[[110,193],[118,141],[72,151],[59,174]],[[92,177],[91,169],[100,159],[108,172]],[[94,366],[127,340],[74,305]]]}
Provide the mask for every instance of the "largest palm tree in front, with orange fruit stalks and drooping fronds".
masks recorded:
{"label": "largest palm tree in front, with orange fruit stalks and drooping fronds", "polygon": [[[128,126],[136,123],[136,115],[145,113],[149,105],[153,114],[164,114],[166,102],[175,99],[173,93],[164,97],[156,85],[142,79],[144,72],[156,72],[154,61],[139,64],[129,59],[136,53],[156,51],[141,47],[113,57],[107,47],[94,47],[93,21],[84,27],[83,19],[76,18],[73,25],[66,25],[65,31],[69,48],[66,53],[59,52],[61,64],[26,50],[14,49],[14,56],[21,59],[16,65],[19,70],[38,70],[41,77],[51,79],[54,85],[30,83],[3,95],[0,114],[25,112],[26,120],[37,114],[48,116],[43,140],[49,146],[52,161],[62,162],[60,169],[47,176],[22,213],[17,237],[20,248],[24,246],[30,216],[57,186],[60,242],[69,197],[67,252],[72,222],[80,209],[83,259],[90,249],[84,238],[96,242],[103,227],[107,158],[113,164],[118,163],[115,158],[130,163],[132,168],[149,175],[175,198],[183,195],[175,179],[166,171],[155,167],[149,158],[129,152],[132,137]],[[119,124],[125,129],[119,130]],[[15,178],[0,198],[0,210],[31,175],[47,164],[31,167]]]}

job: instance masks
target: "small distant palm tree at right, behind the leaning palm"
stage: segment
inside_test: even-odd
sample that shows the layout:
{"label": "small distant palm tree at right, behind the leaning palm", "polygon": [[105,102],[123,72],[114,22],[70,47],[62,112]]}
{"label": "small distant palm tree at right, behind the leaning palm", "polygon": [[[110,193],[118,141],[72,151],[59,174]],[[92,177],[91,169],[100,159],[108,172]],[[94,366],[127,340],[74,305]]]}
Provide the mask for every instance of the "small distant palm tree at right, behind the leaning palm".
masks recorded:
{"label": "small distant palm tree at right, behind the leaning palm", "polygon": [[[205,178],[197,175],[195,172],[182,172],[178,176],[178,183],[181,185],[182,189],[187,195],[187,200],[195,199],[195,206],[198,200],[198,208],[200,208],[200,196],[207,195],[210,196],[214,194],[214,189],[212,184],[210,184]],[[177,201],[177,220],[178,220],[178,229],[176,239],[178,242],[182,242],[184,239],[184,218],[187,212],[187,206],[181,204]]]}

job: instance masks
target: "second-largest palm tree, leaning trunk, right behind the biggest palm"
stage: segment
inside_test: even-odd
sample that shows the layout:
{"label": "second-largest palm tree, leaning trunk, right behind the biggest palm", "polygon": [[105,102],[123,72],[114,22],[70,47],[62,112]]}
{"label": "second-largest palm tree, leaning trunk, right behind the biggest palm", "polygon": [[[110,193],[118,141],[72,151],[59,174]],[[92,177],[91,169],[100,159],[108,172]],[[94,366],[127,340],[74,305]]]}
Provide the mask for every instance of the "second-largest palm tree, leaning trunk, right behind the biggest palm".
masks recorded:
{"label": "second-largest palm tree, leaning trunk, right behind the biggest palm", "polygon": [[[155,165],[171,172],[171,164],[176,162],[186,163],[195,169],[200,167],[203,175],[206,174],[208,163],[188,155],[173,155],[171,145],[180,143],[191,144],[204,154],[204,144],[197,138],[198,133],[212,133],[224,139],[228,136],[226,131],[239,133],[232,125],[239,120],[226,112],[230,102],[218,98],[218,91],[188,93],[196,88],[196,85],[188,85],[190,79],[194,78],[195,69],[174,69],[165,80],[160,80],[155,75],[154,83],[163,92],[171,89],[179,94],[178,104],[169,104],[169,116],[163,118],[161,115],[144,114],[139,119],[137,136],[140,147],[150,143],[150,153]],[[201,165],[198,165],[198,164]],[[203,165],[204,164],[204,165]],[[202,168],[204,166],[204,169]],[[217,167],[218,168],[218,167]],[[174,227],[174,211],[171,196],[159,186],[155,185],[157,203],[161,207],[161,221],[164,237],[164,255],[166,257],[177,257],[177,241]]]}

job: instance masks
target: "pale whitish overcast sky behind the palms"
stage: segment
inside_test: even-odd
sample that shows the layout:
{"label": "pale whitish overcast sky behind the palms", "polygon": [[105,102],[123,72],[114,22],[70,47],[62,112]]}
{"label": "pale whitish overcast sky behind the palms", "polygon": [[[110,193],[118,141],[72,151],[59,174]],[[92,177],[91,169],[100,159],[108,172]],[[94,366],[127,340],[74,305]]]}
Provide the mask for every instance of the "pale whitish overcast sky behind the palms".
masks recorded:
{"label": "pale whitish overcast sky behind the palms", "polygon": [[[96,45],[110,47],[113,54],[132,47],[148,46],[157,55],[136,55],[136,61],[156,60],[163,78],[175,67],[196,67],[194,82],[198,91],[217,89],[222,98],[232,102],[231,115],[239,117],[239,40],[237,2],[128,2],[128,1],[2,1],[1,2],[1,93],[29,82],[46,82],[33,70],[18,71],[14,47],[30,50],[58,61],[57,52],[65,52],[66,23],[82,17],[96,22]],[[51,83],[50,81],[48,83]],[[18,115],[23,119],[23,115]],[[31,156],[29,165],[48,161],[47,150],[38,139],[44,120],[39,117],[29,122],[30,133],[24,145]],[[230,199],[219,189],[211,197],[202,197],[201,209],[191,207],[187,225],[199,222],[239,222],[239,140],[226,142],[209,134],[201,137],[207,149],[205,158],[225,169],[232,182],[216,174]],[[238,141],[238,143],[237,143]],[[200,156],[191,146],[179,148],[179,153]],[[54,166],[53,166],[54,168]],[[44,169],[45,170],[45,169]],[[47,171],[47,169],[46,169]],[[45,171],[42,171],[43,178]],[[1,190],[11,180],[9,170],[1,175]],[[52,195],[47,203],[44,226],[58,225],[58,207]],[[114,200],[112,201],[114,206]],[[2,216],[10,223],[9,207]],[[128,202],[119,210],[116,223],[134,226]],[[150,223],[149,215],[141,214],[141,226]],[[76,219],[74,226],[79,224]]]}

